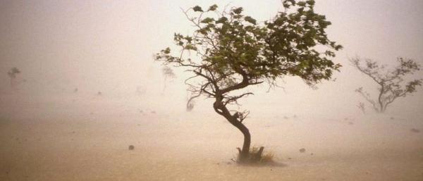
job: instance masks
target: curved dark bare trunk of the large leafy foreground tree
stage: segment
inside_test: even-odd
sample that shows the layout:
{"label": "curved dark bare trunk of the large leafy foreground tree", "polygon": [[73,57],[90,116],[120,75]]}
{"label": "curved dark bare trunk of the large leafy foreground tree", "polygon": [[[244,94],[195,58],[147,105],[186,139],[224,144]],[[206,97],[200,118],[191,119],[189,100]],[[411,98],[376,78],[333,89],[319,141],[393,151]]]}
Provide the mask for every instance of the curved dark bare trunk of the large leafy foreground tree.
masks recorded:
{"label": "curved dark bare trunk of the large leafy foreground tree", "polygon": [[214,110],[216,113],[219,113],[221,116],[226,118],[229,123],[231,123],[233,126],[238,128],[243,135],[244,135],[244,143],[243,143],[243,149],[240,151],[239,161],[244,162],[247,161],[250,158],[250,144],[251,144],[251,135],[250,130],[248,130],[245,125],[238,120],[235,116],[231,115],[231,113],[228,111],[228,108],[221,102],[221,100],[216,99],[216,101],[213,104]]}

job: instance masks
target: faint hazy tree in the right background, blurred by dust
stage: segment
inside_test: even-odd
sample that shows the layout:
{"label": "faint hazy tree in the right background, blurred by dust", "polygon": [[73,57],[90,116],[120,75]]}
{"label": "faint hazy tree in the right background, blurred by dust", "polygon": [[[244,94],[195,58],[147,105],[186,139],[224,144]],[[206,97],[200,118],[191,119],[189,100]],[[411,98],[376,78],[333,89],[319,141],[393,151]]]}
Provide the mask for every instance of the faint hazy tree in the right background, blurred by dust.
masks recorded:
{"label": "faint hazy tree in the right background, blurred by dust", "polygon": [[[371,77],[378,85],[379,95],[376,100],[372,99],[370,94],[364,91],[362,87],[355,90],[367,102],[372,104],[377,113],[384,113],[388,105],[398,97],[405,97],[412,92],[416,92],[416,87],[422,85],[422,79],[412,80],[403,85],[403,77],[420,70],[420,65],[411,59],[401,57],[397,58],[397,61],[398,65],[393,70],[386,70],[385,65],[380,65],[368,58],[364,60],[360,58],[350,59],[355,68],[364,73],[364,75]],[[362,65],[363,63],[364,65]]]}

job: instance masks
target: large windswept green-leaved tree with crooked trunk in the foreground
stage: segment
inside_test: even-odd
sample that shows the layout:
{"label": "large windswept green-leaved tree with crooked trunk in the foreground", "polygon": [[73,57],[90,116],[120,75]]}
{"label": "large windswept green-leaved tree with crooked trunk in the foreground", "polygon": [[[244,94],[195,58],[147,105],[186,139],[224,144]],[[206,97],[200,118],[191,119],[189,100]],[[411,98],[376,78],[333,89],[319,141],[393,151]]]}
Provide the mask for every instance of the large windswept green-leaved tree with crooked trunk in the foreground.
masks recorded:
{"label": "large windswept green-leaved tree with crooked trunk in the foreground", "polygon": [[250,153],[251,136],[243,124],[249,112],[231,109],[238,99],[252,95],[242,92],[245,87],[264,82],[274,87],[276,79],[284,75],[314,85],[329,80],[333,70],[341,67],[331,58],[342,46],[329,41],[325,29],[331,23],[314,12],[314,1],[286,0],[283,7],[284,12],[260,23],[243,15],[242,7],[218,11],[215,4],[206,10],[200,6],[183,10],[195,32],[174,35],[180,52],[171,54],[166,48],[155,55],[164,65],[192,73],[185,80],[188,90],[214,99],[214,111],[243,133],[240,162],[261,157]]}

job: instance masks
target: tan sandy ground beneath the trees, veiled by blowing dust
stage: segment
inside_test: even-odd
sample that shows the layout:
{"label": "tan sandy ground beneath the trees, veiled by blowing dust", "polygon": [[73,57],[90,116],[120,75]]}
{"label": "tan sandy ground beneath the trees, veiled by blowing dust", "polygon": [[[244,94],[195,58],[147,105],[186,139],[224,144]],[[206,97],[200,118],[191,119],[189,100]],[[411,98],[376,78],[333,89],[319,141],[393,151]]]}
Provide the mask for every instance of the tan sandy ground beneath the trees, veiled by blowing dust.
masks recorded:
{"label": "tan sandy ground beneath the trees, veiled by blowing dust", "polygon": [[252,113],[253,144],[278,164],[238,166],[243,137],[212,112],[1,101],[0,180],[423,180],[423,119]]}

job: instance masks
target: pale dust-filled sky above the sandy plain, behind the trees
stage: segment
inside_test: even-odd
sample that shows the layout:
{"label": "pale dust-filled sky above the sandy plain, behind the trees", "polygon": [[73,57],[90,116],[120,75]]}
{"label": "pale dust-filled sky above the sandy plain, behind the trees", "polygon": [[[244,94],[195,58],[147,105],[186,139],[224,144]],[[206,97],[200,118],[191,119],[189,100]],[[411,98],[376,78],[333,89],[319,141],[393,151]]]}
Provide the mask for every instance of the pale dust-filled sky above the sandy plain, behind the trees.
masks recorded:
{"label": "pale dust-filled sky above the sandy plain, behind the trees", "polygon": [[[190,24],[180,8],[197,4],[243,6],[245,14],[257,20],[269,20],[281,10],[281,1],[3,0],[1,87],[8,85],[6,72],[16,66],[23,71],[20,77],[28,84],[32,82],[33,89],[50,86],[134,92],[140,85],[161,89],[160,66],[152,61],[152,55],[172,44],[173,32],[190,33]],[[371,82],[351,68],[348,57],[357,55],[389,64],[397,56],[405,56],[423,63],[422,7],[420,0],[317,0],[316,11],[332,22],[329,38],[345,47],[335,58],[343,64],[341,73],[335,75],[337,81],[324,82],[318,90],[311,90],[301,81],[288,78],[283,85],[285,92],[276,89],[252,99],[281,104],[288,100],[297,108],[329,103],[345,106],[345,110],[357,109],[357,101],[348,99],[358,99],[353,90]],[[173,94],[186,95],[183,84],[173,89]],[[414,108],[423,106],[423,92],[419,90],[414,99],[407,98],[414,101]]]}

